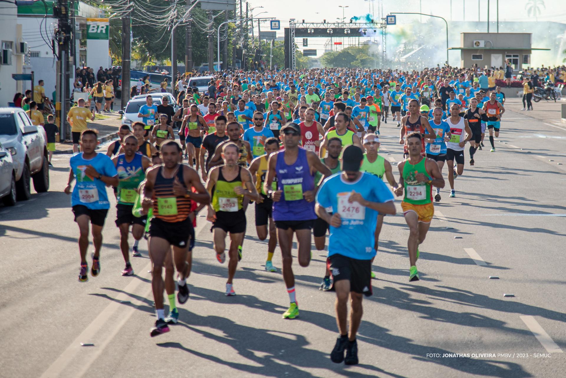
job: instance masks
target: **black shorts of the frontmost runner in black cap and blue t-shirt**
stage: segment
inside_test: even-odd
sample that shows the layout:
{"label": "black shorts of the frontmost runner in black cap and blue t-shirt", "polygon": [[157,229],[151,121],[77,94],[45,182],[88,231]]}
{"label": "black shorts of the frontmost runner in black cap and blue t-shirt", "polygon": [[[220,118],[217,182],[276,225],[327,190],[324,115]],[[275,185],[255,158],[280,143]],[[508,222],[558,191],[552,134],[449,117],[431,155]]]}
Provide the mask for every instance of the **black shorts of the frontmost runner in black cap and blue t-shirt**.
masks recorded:
{"label": "black shorts of the frontmost runner in black cap and blue t-shirt", "polygon": [[331,255],[326,264],[334,282],[350,281],[350,291],[371,297],[371,260],[358,260],[344,255]]}

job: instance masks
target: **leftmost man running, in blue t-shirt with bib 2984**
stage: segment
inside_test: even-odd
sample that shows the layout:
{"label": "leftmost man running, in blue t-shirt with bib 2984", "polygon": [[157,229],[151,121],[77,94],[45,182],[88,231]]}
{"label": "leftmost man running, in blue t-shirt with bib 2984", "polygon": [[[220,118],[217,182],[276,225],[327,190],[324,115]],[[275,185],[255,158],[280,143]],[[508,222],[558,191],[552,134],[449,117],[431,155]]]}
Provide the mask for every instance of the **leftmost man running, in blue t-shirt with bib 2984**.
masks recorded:
{"label": "leftmost man running, in blue t-shirt with bib 2984", "polygon": [[[75,214],[75,222],[79,226],[80,271],[79,282],[88,281],[87,248],[88,234],[92,233],[92,243],[95,252],[92,257],[92,277],[100,273],[100,248],[102,247],[102,228],[108,215],[110,202],[106,194],[106,186],[118,185],[118,174],[112,159],[103,153],[98,153],[98,132],[87,128],[80,134],[80,153],[71,157],[69,178],[65,194],[71,194],[71,183],[76,178],[72,188],[71,207]],[[88,224],[91,224],[90,230]],[[90,231],[90,232],[89,232]]]}

